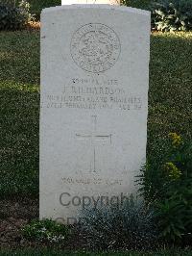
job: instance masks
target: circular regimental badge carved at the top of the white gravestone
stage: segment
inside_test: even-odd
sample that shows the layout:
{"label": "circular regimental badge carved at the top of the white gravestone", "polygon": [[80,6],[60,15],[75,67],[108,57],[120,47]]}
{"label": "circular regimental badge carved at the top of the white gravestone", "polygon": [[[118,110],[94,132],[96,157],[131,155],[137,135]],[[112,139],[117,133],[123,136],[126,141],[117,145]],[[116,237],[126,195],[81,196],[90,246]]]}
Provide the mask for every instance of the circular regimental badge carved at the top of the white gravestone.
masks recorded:
{"label": "circular regimental badge carved at the top of the white gravestone", "polygon": [[75,32],[71,39],[71,56],[85,71],[99,73],[116,63],[120,40],[108,26],[89,23]]}

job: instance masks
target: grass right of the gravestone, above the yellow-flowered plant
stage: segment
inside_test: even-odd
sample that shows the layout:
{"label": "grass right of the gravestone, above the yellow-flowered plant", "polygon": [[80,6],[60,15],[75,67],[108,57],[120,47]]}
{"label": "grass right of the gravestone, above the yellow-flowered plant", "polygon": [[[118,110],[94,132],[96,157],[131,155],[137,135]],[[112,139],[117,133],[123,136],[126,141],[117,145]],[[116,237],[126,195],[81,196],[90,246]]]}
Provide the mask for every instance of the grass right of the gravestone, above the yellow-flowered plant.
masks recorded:
{"label": "grass right of the gravestone, above the yellow-flowered plant", "polygon": [[[188,61],[186,61],[188,60]],[[148,155],[160,154],[168,133],[192,136],[192,33],[151,37]]]}

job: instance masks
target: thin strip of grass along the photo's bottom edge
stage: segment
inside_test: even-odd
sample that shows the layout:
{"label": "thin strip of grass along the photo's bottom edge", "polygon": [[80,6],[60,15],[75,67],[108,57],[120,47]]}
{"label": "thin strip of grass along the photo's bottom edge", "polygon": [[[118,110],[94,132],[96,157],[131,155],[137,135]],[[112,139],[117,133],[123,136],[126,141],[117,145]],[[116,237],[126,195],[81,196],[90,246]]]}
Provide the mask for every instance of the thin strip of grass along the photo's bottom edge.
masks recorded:
{"label": "thin strip of grass along the photo's bottom edge", "polygon": [[0,251],[0,256],[191,256],[191,250],[159,250],[156,252],[64,252],[48,249],[24,249],[16,251]]}

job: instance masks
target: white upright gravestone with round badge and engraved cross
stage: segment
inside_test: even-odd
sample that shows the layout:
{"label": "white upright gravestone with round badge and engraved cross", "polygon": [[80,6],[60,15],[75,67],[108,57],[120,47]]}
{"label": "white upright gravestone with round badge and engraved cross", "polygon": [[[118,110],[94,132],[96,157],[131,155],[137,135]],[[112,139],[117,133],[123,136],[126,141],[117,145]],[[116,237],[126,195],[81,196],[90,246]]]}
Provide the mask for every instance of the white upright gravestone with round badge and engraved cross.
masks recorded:
{"label": "white upright gravestone with round badge and engraved cross", "polygon": [[74,5],[41,14],[40,218],[122,203],[145,163],[150,13]]}

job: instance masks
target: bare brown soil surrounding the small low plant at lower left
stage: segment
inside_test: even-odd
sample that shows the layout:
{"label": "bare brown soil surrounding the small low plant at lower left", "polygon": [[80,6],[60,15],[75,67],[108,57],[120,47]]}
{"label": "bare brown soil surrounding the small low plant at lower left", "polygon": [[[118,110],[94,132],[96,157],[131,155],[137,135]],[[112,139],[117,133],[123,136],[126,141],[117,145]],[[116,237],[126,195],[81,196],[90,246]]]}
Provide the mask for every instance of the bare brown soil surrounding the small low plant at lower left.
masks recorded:
{"label": "bare brown soil surrounding the small low plant at lower left", "polygon": [[54,247],[67,250],[86,247],[86,240],[73,226],[70,239],[62,244],[29,241],[22,236],[21,228],[38,218],[38,198],[16,197],[0,199],[0,248]]}

